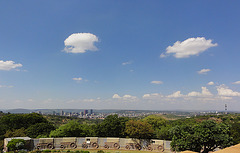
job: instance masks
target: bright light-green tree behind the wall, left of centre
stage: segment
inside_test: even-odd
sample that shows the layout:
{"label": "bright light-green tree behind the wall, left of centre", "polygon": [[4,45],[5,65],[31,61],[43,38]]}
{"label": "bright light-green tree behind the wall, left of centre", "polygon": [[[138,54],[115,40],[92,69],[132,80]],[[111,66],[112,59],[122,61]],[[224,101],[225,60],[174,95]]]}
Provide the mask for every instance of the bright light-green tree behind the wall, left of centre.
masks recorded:
{"label": "bright light-green tree behind the wall, left of centre", "polygon": [[89,125],[70,121],[58,129],[51,131],[50,137],[86,137],[90,136]]}

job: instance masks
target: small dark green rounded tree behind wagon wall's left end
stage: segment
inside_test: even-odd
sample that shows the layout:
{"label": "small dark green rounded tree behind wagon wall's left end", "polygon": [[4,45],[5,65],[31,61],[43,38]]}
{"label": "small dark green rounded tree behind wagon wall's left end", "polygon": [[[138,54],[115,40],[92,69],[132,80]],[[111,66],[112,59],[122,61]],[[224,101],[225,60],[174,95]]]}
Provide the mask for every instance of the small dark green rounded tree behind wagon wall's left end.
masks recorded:
{"label": "small dark green rounded tree behind wagon wall's left end", "polygon": [[36,138],[39,135],[48,136],[52,130],[55,130],[55,127],[51,123],[37,123],[28,127],[26,133],[27,136]]}

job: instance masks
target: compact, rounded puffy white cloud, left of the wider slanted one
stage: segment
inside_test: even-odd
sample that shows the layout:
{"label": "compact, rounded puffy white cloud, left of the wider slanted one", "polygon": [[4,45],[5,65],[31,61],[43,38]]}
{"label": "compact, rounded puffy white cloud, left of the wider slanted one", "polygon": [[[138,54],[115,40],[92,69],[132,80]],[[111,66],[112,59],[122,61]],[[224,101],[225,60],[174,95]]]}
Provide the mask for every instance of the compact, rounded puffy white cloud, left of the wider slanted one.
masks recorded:
{"label": "compact, rounded puffy white cloud, left of the wider slanted one", "polygon": [[98,38],[94,34],[74,33],[64,41],[64,51],[67,53],[85,53],[87,50],[97,51],[94,42],[98,42]]}

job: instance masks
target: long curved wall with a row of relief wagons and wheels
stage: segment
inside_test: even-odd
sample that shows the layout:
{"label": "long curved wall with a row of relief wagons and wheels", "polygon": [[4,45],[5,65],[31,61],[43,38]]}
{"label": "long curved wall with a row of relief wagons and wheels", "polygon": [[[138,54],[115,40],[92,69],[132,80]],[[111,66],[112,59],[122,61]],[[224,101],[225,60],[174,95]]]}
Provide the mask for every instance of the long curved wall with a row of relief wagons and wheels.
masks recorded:
{"label": "long curved wall with a row of relief wagons and wheels", "polygon": [[[13,138],[4,139],[4,151],[6,145]],[[62,149],[125,149],[125,150],[149,150],[164,151],[170,148],[170,142],[164,140],[139,140],[132,138],[101,138],[101,137],[63,137],[63,138],[39,138],[28,139],[27,150],[62,150]]]}

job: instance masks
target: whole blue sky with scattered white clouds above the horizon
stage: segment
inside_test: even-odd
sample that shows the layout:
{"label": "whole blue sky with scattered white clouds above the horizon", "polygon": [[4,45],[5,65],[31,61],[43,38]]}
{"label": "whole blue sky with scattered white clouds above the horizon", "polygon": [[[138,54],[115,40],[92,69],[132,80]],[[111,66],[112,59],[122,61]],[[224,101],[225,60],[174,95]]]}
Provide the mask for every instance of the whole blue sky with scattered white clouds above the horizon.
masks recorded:
{"label": "whole blue sky with scattered white clouds above the horizon", "polygon": [[238,1],[0,1],[0,109],[240,109]]}

